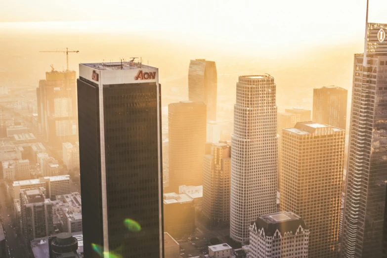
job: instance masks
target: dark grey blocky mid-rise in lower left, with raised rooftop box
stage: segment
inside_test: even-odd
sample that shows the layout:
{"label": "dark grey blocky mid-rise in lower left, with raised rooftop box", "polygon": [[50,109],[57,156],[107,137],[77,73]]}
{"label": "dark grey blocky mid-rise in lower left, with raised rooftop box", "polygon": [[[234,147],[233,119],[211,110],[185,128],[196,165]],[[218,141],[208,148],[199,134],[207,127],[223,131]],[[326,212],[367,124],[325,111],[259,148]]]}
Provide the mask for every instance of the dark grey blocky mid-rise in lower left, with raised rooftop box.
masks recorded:
{"label": "dark grey blocky mid-rise in lower left, with raised rooftop box", "polygon": [[29,241],[54,232],[52,202],[44,196],[44,188],[20,191],[21,228]]}

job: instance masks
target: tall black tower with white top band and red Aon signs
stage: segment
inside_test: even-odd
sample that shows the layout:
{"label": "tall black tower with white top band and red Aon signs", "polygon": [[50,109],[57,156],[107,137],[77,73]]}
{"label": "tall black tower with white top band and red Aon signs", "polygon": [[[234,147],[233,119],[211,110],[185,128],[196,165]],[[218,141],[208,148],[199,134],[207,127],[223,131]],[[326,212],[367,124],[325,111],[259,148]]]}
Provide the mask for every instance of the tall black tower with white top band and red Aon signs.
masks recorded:
{"label": "tall black tower with white top band and red Aon signs", "polygon": [[163,258],[158,69],[89,63],[79,75],[85,257]]}

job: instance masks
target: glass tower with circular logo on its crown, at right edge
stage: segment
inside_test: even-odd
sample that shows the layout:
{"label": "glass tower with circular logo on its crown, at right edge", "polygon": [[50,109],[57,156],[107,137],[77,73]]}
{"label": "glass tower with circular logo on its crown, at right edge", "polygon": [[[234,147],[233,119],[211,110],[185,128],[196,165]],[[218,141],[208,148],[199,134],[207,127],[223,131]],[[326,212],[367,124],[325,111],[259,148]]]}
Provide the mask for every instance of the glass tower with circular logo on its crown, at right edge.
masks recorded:
{"label": "glass tower with circular logo on its crown, at right edge", "polygon": [[343,258],[382,256],[387,179],[387,24],[368,23],[366,28],[366,53],[355,54],[353,64]]}

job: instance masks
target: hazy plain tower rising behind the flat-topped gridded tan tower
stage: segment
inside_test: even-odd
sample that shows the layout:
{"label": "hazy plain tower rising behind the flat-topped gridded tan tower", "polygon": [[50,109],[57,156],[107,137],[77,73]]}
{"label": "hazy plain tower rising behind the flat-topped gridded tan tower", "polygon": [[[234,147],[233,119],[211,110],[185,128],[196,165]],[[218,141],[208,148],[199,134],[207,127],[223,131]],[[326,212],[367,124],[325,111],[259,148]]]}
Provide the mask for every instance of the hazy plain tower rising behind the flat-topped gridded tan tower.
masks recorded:
{"label": "hazy plain tower rising behind the flat-topped gridded tan tower", "polygon": [[345,130],[348,90],[338,86],[313,89],[313,122]]}

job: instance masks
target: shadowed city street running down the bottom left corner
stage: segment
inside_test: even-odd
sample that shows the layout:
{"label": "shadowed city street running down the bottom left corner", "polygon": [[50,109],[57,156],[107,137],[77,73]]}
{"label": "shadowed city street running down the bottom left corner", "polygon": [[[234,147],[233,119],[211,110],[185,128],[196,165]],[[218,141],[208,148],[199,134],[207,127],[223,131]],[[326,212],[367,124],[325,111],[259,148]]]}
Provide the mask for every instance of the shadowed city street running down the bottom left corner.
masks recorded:
{"label": "shadowed city street running down the bottom left corner", "polygon": [[[0,184],[1,183],[3,183],[2,179],[0,179]],[[4,230],[6,244],[11,254],[9,258],[29,258],[28,247],[25,246],[22,237],[20,237],[14,229],[14,226],[16,225],[13,224],[12,221],[14,219],[13,211],[11,209],[6,208],[5,197],[3,193],[3,189],[0,189],[0,219],[2,220],[1,224]]]}

